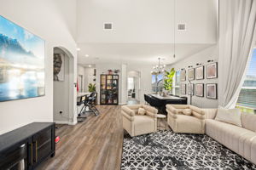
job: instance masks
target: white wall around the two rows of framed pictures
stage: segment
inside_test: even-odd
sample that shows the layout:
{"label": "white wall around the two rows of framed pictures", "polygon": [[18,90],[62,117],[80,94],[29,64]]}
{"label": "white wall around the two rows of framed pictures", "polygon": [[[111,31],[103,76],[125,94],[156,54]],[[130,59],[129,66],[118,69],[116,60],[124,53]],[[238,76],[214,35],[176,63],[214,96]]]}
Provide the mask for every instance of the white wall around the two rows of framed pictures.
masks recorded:
{"label": "white wall around the two rows of framed pictures", "polygon": [[[196,63],[201,63],[201,65],[205,65],[205,79],[204,80],[195,80],[191,81],[191,83],[218,83],[217,79],[207,79],[207,69],[206,65],[208,59],[214,59],[214,61],[218,61],[218,45],[212,46],[210,48],[206,48],[205,50],[202,50],[201,52],[194,54],[190,56],[189,58],[183,59],[173,65],[167,65],[167,68],[175,68],[175,70],[180,70],[182,68],[185,68],[188,72],[188,66],[193,65],[193,68],[196,68]],[[219,73],[220,74],[220,73]],[[188,76],[188,74],[187,74]],[[188,77],[186,78],[187,89],[188,89]],[[206,86],[206,85],[205,85]],[[188,92],[188,90],[187,90]],[[206,87],[205,87],[205,94],[206,94]],[[190,103],[190,97],[189,95],[181,95],[188,97],[188,104]],[[206,96],[206,95],[205,95]],[[218,107],[218,99],[207,99],[206,97],[197,97],[193,96],[192,98],[192,105],[201,107],[201,108],[217,108]]]}

